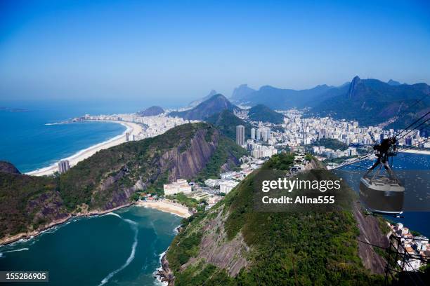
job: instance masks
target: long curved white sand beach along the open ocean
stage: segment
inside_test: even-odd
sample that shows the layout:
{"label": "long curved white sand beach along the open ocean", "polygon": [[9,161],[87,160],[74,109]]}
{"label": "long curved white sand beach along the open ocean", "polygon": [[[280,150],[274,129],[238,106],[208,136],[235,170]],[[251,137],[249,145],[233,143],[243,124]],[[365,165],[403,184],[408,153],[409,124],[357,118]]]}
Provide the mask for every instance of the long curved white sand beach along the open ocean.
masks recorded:
{"label": "long curved white sand beach along the open ocean", "polygon": [[[78,162],[86,158],[89,158],[90,156],[93,156],[93,154],[96,154],[97,151],[107,149],[126,142],[126,132],[130,132],[131,135],[136,136],[143,130],[142,126],[136,123],[126,122],[126,121],[105,121],[105,122],[119,123],[124,125],[127,129],[122,133],[122,135],[118,135],[105,142],[102,142],[102,143],[93,145],[87,149],[81,150],[70,157],[63,158],[63,160],[69,161],[70,167],[76,165]],[[44,176],[44,175],[53,175],[53,173],[57,171],[58,171],[58,162],[46,168],[41,168],[38,170],[27,172],[26,174],[32,175],[32,176]]]}

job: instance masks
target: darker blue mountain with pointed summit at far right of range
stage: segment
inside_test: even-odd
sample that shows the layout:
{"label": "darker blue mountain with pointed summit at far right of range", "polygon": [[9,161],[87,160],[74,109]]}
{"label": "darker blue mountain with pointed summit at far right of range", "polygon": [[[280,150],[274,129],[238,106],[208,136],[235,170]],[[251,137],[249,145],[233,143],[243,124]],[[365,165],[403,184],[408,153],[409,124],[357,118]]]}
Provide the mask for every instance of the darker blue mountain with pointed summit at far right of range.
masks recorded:
{"label": "darker blue mountain with pointed summit at far right of range", "polygon": [[356,76],[345,93],[323,100],[308,115],[357,120],[360,125],[377,125],[391,120],[395,122],[387,128],[404,128],[430,111],[429,95],[430,86],[426,83],[399,85]]}

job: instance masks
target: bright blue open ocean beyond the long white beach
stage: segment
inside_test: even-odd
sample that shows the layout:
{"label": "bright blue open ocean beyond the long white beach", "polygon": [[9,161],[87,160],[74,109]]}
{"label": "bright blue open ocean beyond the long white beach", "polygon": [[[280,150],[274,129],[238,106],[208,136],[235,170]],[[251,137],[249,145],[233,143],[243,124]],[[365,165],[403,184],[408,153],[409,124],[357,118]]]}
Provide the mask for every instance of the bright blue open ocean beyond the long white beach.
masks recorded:
{"label": "bright blue open ocean beyond the long white beach", "polygon": [[46,125],[89,113],[82,107],[62,104],[41,107],[28,103],[17,107],[25,107],[27,111],[0,110],[0,160],[13,163],[20,172],[47,167],[126,130],[118,123]]}

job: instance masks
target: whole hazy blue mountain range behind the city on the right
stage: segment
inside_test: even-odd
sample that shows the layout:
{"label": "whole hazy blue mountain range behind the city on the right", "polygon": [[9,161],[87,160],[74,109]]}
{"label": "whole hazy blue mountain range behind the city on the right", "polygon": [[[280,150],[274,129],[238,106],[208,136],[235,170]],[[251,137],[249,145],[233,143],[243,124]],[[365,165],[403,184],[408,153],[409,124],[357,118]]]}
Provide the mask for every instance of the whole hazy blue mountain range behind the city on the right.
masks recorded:
{"label": "whole hazy blue mountain range behind the city on the right", "polygon": [[[430,110],[430,86],[426,83],[401,84],[390,79],[360,79],[341,86],[320,85],[306,90],[262,86],[252,91],[242,85],[233,91],[235,104],[255,106],[266,104],[272,109],[293,107],[311,109],[306,116],[332,116],[336,119],[357,120],[360,125],[383,123],[387,128],[405,128]],[[429,125],[422,131],[430,133]]]}

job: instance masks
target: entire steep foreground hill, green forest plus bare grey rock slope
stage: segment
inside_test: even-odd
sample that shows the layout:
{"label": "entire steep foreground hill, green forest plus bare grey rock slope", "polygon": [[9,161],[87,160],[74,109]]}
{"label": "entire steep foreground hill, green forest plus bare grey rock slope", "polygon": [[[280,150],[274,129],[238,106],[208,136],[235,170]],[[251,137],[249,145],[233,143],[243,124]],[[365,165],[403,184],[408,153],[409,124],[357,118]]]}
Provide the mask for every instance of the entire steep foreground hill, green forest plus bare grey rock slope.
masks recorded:
{"label": "entire steep foreground hill, green forest plus bare grey rock slope", "polygon": [[[363,230],[372,229],[388,244],[377,218],[358,222],[359,211],[351,206],[327,212],[255,209],[257,178],[293,163],[290,154],[272,156],[224,200],[185,220],[162,259],[170,281],[176,286],[279,285],[280,281],[285,285],[383,285],[384,266],[379,265],[375,274],[363,265],[384,261],[372,247],[363,251],[356,240]],[[310,164],[322,168],[317,161]],[[312,179],[312,172],[304,178]],[[343,191],[354,200],[351,189]]]}

